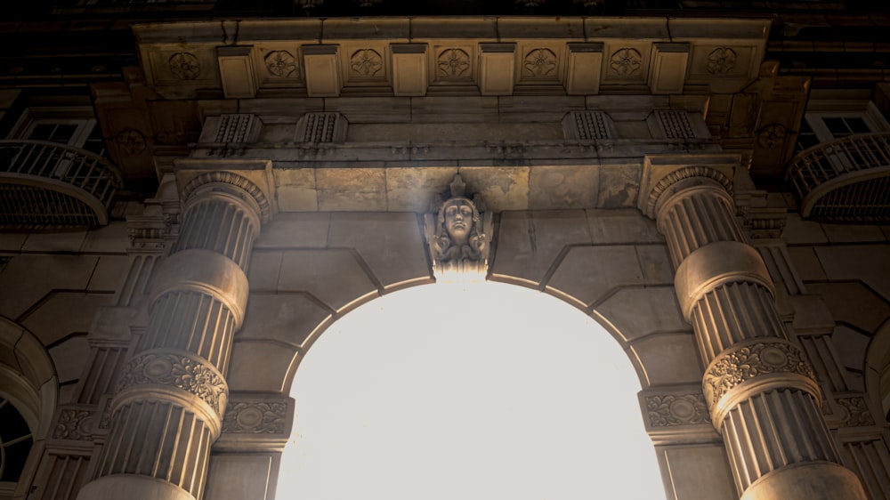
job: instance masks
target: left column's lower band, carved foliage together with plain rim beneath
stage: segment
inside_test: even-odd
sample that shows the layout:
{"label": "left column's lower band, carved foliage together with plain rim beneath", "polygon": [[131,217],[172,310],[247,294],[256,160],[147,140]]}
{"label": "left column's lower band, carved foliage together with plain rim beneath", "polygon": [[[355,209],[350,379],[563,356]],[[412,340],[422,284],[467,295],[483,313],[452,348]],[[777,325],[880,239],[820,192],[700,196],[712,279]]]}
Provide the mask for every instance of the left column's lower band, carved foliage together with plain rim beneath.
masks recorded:
{"label": "left column's lower band, carved foliage together with plain rim beneath", "polygon": [[[182,407],[203,414],[214,436],[218,436],[229,387],[223,374],[205,359],[185,351],[154,349],[142,351],[124,365],[111,411],[131,400],[150,398],[174,399]],[[196,404],[198,401],[204,407]]]}

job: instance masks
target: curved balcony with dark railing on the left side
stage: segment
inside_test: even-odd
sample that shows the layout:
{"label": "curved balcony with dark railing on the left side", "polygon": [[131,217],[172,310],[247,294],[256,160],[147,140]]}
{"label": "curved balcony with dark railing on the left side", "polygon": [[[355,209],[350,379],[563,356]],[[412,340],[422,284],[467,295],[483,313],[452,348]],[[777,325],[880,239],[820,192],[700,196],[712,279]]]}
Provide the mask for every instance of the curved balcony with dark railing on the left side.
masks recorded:
{"label": "curved balcony with dark railing on the left side", "polygon": [[117,167],[83,149],[45,141],[0,141],[0,227],[107,224]]}

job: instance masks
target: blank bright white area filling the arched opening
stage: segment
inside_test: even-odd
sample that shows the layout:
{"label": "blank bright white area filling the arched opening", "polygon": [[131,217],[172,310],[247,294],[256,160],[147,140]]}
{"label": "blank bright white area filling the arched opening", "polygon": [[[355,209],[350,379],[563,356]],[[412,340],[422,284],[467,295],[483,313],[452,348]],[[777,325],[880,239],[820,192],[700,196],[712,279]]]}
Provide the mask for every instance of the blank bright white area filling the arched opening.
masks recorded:
{"label": "blank bright white area filling the arched opening", "polygon": [[499,283],[353,310],[295,376],[281,500],[651,500],[627,356],[593,319]]}

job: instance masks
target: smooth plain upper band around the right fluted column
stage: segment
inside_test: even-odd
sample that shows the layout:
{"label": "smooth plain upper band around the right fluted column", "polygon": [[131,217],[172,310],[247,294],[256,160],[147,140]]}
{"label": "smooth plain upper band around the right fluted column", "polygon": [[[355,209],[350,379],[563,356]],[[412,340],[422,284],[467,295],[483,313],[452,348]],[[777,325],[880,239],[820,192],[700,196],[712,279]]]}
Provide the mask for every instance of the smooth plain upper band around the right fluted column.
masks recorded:
{"label": "smooth plain upper band around the right fluted column", "polygon": [[737,241],[717,241],[702,246],[680,263],[674,276],[676,298],[686,321],[705,294],[728,283],[755,283],[775,296],[773,278],[763,258],[752,246]]}

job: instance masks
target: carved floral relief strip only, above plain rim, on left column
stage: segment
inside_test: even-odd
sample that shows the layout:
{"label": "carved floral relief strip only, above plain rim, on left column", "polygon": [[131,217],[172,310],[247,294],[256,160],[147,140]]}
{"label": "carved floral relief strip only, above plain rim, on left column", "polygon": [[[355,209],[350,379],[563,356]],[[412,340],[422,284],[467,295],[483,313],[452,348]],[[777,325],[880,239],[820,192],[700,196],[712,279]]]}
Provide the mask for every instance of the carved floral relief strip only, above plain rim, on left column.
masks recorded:
{"label": "carved floral relief strip only, above plain rim, on left column", "polygon": [[214,367],[177,353],[150,352],[134,356],[124,366],[117,391],[146,383],[169,385],[203,399],[222,416],[229,388]]}

